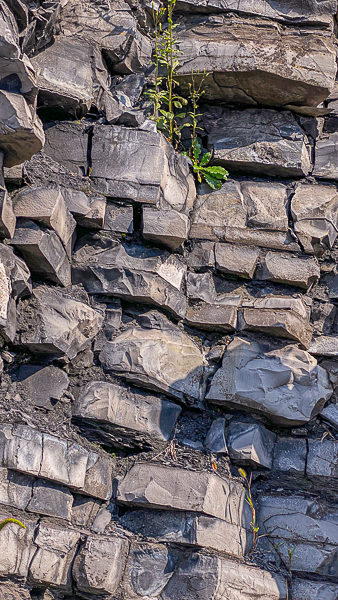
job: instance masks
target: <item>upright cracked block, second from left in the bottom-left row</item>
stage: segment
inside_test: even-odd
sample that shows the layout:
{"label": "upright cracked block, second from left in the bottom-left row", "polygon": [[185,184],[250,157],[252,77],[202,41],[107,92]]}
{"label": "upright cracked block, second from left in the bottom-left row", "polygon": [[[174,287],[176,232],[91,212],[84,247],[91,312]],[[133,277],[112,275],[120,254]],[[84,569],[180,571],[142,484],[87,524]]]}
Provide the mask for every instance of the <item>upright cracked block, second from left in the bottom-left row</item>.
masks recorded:
{"label": "upright cracked block, second from left in the bottom-left row", "polygon": [[37,551],[29,567],[31,579],[39,584],[69,589],[80,535],[79,531],[42,521],[34,540]]}

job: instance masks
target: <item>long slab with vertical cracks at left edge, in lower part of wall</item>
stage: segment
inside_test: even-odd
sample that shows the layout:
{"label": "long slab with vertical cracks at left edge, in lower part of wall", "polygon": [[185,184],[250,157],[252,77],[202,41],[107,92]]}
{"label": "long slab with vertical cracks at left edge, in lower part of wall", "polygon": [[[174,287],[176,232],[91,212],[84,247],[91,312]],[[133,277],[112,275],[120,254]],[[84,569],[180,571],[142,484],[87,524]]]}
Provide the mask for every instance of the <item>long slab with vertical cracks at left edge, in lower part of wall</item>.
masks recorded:
{"label": "long slab with vertical cracks at left edge, in lower part of wall", "polygon": [[0,466],[43,477],[81,491],[109,499],[112,462],[109,457],[89,452],[77,443],[40,433],[28,425],[2,425]]}

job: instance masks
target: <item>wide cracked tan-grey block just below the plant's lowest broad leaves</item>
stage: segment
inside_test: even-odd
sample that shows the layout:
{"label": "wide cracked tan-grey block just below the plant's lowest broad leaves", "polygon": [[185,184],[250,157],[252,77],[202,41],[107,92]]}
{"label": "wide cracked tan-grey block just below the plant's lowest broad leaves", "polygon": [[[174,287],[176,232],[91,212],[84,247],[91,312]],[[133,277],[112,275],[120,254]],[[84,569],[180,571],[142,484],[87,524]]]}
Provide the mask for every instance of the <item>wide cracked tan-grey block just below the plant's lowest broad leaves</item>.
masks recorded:
{"label": "wide cracked tan-grey block just below the plant's lowest broad leaves", "polygon": [[[288,228],[288,196],[287,187],[278,182],[230,179],[216,191],[202,185],[189,237],[299,252],[297,238]],[[313,253],[308,238],[300,239],[306,252]]]}

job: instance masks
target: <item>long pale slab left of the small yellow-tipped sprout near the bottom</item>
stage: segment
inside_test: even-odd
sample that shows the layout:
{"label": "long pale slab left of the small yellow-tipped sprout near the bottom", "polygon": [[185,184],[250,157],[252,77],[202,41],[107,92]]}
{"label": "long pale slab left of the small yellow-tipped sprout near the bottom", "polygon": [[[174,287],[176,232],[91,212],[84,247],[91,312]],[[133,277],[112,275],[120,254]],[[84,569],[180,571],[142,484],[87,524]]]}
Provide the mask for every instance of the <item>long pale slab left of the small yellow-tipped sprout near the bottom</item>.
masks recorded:
{"label": "long pale slab left of the small yellow-tipped sprout near the bottom", "polygon": [[210,473],[141,463],[119,483],[116,499],[128,506],[192,510],[242,527],[249,524],[241,485]]}

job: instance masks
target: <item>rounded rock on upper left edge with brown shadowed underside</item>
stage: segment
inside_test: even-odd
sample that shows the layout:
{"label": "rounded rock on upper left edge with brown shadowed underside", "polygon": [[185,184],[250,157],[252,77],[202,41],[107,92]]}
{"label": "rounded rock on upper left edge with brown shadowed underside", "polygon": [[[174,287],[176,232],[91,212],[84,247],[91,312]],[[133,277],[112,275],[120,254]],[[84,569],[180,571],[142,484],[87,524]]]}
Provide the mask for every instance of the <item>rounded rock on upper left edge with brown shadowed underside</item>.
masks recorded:
{"label": "rounded rock on upper left edge with brown shadowed underside", "polygon": [[4,166],[29,160],[45,141],[42,123],[21,94],[0,90],[0,149]]}

